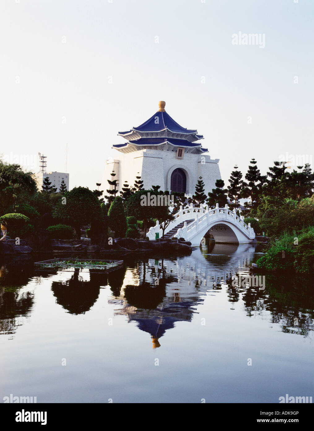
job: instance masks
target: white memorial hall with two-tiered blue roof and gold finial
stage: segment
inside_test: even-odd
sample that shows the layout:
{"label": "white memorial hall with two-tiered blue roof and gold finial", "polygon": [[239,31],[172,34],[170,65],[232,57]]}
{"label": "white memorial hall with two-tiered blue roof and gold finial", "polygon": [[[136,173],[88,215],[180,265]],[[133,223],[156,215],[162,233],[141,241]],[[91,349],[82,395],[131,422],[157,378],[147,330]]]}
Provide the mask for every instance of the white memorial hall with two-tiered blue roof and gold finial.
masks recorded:
{"label": "white memorial hall with two-tiered blue roof and gold finial", "polygon": [[[220,179],[219,159],[211,159],[197,130],[180,126],[165,111],[166,103],[150,119],[130,130],[119,132],[125,139],[114,145],[117,158],[106,160],[103,186],[117,179],[121,191],[125,181],[132,187],[136,176],[144,181],[145,190],[159,185],[162,191],[185,192],[191,196],[199,177],[203,178],[205,193],[215,188]],[[111,172],[116,175],[111,177]]]}

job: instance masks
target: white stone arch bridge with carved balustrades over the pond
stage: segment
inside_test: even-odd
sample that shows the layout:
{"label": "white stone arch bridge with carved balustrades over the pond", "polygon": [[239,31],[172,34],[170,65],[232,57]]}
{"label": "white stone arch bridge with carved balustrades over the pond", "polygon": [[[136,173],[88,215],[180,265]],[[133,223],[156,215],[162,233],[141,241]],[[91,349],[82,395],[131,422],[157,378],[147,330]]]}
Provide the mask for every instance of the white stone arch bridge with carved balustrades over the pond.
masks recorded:
{"label": "white stone arch bridge with carved balustrades over the pond", "polygon": [[[225,244],[248,244],[254,241],[255,232],[251,225],[244,223],[244,217],[236,214],[236,209],[231,211],[228,205],[219,208],[218,204],[214,209],[203,207],[190,207],[183,209],[180,206],[179,212],[175,214],[175,220],[169,224],[165,230],[165,237],[184,238],[191,241],[192,247],[199,247],[206,234],[210,231],[216,243]],[[159,222],[151,227],[148,232],[150,240],[155,239],[155,234],[162,237],[163,231]]]}

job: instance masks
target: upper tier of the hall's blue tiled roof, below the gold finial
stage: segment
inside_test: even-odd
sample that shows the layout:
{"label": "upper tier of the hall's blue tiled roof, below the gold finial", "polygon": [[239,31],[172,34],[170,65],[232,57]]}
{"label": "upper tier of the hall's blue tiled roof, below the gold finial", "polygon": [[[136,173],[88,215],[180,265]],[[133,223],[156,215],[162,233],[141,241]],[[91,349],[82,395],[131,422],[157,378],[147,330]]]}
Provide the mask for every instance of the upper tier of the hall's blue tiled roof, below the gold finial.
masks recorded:
{"label": "upper tier of the hall's blue tiled roof, below the gold finial", "polygon": [[[157,120],[157,118],[158,120]],[[197,130],[190,130],[180,126],[174,119],[172,119],[167,112],[159,112],[157,111],[150,119],[148,119],[145,123],[139,125],[138,127],[134,127],[134,130],[143,131],[143,132],[153,132],[160,131],[164,128],[168,128],[169,130],[177,133],[196,133]],[[129,131],[119,132],[119,134],[128,134]],[[200,138],[203,138],[200,135]]]}

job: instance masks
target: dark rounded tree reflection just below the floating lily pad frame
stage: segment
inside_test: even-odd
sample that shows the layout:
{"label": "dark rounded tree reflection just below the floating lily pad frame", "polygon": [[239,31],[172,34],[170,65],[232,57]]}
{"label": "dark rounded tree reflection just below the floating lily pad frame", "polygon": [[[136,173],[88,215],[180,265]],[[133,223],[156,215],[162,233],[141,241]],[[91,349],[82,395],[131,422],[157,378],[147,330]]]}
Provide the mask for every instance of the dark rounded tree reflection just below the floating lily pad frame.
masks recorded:
{"label": "dark rounded tree reflection just below the floating lily pad frame", "polygon": [[75,268],[66,285],[62,284],[62,281],[52,281],[51,289],[59,305],[71,314],[82,314],[89,311],[98,299],[104,278],[106,279],[107,275],[90,272],[89,281],[84,281],[80,276],[80,269]]}

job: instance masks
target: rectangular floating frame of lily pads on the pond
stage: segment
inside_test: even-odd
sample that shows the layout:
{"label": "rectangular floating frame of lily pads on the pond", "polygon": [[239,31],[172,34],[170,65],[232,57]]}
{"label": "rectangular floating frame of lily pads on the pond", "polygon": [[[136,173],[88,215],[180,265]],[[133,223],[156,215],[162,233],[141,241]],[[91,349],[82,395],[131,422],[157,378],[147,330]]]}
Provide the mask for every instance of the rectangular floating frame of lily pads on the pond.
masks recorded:
{"label": "rectangular floating frame of lily pads on the pond", "polygon": [[[70,263],[65,263],[69,262]],[[72,261],[72,262],[71,262]],[[103,263],[101,263],[103,262]],[[41,262],[35,262],[35,266],[40,268],[62,268],[68,271],[74,271],[75,268],[83,269],[95,269],[97,271],[101,270],[104,272],[111,272],[119,269],[123,266],[123,260],[108,260],[102,261],[100,259],[64,259],[56,258],[43,260]]]}

